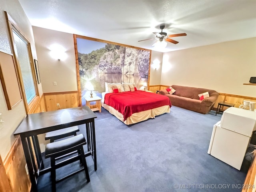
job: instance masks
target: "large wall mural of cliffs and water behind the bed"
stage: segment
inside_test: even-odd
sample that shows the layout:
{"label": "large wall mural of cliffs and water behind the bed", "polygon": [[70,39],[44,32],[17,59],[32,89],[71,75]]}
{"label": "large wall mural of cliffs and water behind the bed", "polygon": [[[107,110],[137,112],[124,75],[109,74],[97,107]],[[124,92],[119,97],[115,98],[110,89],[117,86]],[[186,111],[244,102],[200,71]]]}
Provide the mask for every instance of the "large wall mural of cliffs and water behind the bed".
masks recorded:
{"label": "large wall mural of cliffs and water behind the bed", "polygon": [[[77,38],[81,96],[101,97],[105,82],[148,83],[150,51]],[[83,103],[83,101],[82,101]]]}

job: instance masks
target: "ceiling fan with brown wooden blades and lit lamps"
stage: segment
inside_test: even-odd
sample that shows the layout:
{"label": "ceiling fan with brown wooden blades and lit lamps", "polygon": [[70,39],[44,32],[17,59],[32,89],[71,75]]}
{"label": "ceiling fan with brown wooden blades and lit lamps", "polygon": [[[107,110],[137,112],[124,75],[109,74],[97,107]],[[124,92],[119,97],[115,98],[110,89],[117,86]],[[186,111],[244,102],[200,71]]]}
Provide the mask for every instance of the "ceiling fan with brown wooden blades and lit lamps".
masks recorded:
{"label": "ceiling fan with brown wooden blades and lit lamps", "polygon": [[[160,45],[163,44],[164,47],[166,47],[167,43],[166,42],[170,42],[170,43],[174,43],[177,44],[178,41],[175,41],[173,39],[170,39],[170,37],[178,37],[178,36],[186,36],[186,33],[179,33],[179,34],[172,34],[172,35],[167,35],[167,33],[163,32],[164,29],[164,25],[160,26],[160,29],[162,30],[160,33],[157,32],[153,32],[156,37],[155,38],[150,38],[150,39],[144,39],[144,40],[140,40],[140,41],[146,41],[146,40],[152,40],[152,39],[157,39],[152,46],[156,46],[156,45]],[[138,41],[138,42],[140,42]]]}

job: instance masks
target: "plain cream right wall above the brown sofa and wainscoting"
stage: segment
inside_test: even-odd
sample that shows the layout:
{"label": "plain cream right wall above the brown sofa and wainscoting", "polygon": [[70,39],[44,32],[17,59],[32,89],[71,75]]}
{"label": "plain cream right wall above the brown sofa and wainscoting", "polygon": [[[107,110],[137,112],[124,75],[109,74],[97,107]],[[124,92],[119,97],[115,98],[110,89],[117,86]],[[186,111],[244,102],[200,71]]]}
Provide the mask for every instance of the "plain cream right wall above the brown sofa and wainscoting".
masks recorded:
{"label": "plain cream right wall above the brown sofa and wainscoting", "polygon": [[209,88],[221,93],[256,97],[256,38],[236,40],[163,55],[162,85]]}

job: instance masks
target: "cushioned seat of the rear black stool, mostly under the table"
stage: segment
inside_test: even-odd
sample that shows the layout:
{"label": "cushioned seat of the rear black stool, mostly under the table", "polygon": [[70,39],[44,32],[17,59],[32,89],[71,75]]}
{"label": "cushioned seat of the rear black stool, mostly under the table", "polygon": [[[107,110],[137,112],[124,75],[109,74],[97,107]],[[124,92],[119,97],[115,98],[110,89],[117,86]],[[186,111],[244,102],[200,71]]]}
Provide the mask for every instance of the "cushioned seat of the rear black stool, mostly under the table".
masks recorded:
{"label": "cushioned seat of the rear black stool, mostly under the table", "polygon": [[60,139],[60,138],[64,138],[64,137],[68,137],[68,136],[76,136],[76,132],[79,131],[78,126],[74,126],[74,127],[68,127],[68,128],[64,128],[64,129],[59,129],[56,131],[51,131],[51,132],[47,132],[45,134],[45,140],[50,139],[50,142],[54,142],[54,140]]}

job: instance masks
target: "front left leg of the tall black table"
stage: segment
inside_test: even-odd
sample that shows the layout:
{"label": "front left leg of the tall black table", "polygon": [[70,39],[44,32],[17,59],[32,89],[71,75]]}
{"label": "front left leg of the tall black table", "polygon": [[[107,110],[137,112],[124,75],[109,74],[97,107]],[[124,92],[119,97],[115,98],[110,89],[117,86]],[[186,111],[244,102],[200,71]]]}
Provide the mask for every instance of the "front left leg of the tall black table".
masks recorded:
{"label": "front left leg of the tall black table", "polygon": [[28,166],[28,173],[29,173],[29,177],[30,177],[30,181],[31,181],[31,191],[37,192],[36,177],[34,175],[34,168],[33,168],[33,164],[32,164],[32,161],[31,161],[30,151],[29,151],[28,142],[27,142],[27,140],[30,139],[30,138],[20,136],[20,139],[21,139],[21,142],[22,142],[24,155],[25,155],[25,158],[26,158],[27,166]]}

